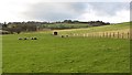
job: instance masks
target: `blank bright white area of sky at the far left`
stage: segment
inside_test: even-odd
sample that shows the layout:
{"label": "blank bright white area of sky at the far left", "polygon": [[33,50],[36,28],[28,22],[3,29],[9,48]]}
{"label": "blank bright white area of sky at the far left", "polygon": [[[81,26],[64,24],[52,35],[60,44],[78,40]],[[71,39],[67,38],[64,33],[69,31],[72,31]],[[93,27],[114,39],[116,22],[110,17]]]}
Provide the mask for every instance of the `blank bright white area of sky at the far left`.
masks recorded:
{"label": "blank bright white area of sky at the far left", "polygon": [[25,21],[21,13],[37,2],[41,0],[0,0],[0,22]]}

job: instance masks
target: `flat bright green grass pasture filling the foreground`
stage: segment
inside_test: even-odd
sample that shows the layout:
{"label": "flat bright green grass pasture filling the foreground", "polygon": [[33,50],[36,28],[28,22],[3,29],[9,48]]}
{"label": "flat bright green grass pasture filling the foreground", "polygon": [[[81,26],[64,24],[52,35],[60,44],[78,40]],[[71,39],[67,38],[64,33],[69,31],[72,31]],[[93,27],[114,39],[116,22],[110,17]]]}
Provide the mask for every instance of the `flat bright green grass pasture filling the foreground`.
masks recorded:
{"label": "flat bright green grass pasture filling the foreground", "polygon": [[[24,36],[38,40],[18,40]],[[52,35],[52,31],[2,38],[4,73],[130,72],[130,41],[127,39],[61,38]]]}

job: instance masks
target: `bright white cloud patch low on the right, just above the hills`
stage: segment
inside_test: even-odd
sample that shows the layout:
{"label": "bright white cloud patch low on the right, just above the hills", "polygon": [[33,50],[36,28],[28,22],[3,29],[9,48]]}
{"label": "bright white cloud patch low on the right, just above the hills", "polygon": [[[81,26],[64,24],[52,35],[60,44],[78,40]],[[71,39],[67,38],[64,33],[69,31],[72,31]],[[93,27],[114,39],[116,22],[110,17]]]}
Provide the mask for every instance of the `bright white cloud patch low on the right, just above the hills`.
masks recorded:
{"label": "bright white cloud patch low on the right, just above the hills", "polygon": [[91,12],[84,13],[78,19],[81,21],[105,21],[111,23],[120,23],[120,22],[128,22],[130,21],[130,11],[129,10],[121,10],[116,12],[116,15],[108,15],[108,17],[100,17],[96,14],[96,11],[91,10]]}

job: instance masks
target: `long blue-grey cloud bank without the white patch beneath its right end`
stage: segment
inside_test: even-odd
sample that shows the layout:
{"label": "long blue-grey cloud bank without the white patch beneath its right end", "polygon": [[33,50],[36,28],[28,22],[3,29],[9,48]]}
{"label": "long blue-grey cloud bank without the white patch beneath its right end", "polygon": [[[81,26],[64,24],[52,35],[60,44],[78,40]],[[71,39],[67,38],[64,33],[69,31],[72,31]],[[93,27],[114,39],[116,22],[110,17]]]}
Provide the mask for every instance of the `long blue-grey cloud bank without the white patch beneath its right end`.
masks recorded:
{"label": "long blue-grey cloud bank without the white patch beneath its right end", "polygon": [[129,10],[129,2],[42,2],[30,6],[23,14],[35,20],[61,21],[76,19],[87,13],[86,9],[92,9],[97,15],[116,15],[117,11]]}

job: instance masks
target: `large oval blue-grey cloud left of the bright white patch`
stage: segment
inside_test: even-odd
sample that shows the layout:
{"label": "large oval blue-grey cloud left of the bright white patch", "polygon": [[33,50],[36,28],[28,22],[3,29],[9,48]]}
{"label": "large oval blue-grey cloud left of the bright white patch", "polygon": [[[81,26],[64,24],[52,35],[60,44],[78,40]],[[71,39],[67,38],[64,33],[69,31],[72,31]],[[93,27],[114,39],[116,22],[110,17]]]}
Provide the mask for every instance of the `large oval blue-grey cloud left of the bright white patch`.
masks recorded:
{"label": "large oval blue-grey cloud left of the bright white patch", "polygon": [[85,2],[44,2],[34,4],[24,14],[38,20],[57,21],[75,19],[84,13],[86,8]]}

